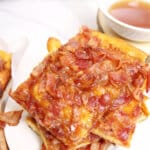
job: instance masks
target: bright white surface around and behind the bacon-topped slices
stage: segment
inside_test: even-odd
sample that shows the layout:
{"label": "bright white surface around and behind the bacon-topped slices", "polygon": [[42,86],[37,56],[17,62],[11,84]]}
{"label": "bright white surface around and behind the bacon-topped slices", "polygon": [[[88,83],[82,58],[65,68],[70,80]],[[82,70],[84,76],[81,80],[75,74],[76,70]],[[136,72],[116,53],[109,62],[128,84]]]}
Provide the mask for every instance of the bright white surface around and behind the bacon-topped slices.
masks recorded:
{"label": "bright white surface around and behind the bacon-topped slices", "polygon": [[[28,39],[28,42],[22,43],[27,48],[25,53],[22,53],[23,57],[20,63],[16,64],[17,68],[13,74],[15,76],[13,88],[26,79],[33,66],[41,61],[47,53],[46,41],[49,36],[58,37],[65,42],[78,32],[81,25],[97,28],[98,5],[92,0],[33,1],[9,2],[6,0],[0,2],[0,37],[8,42],[7,49],[16,49],[16,47],[20,49],[21,46],[18,45],[20,42],[18,41],[17,44],[17,39]],[[9,99],[6,111],[19,108],[13,100]],[[10,150],[40,150],[40,140],[26,125],[25,116],[24,113],[18,126],[6,127],[5,129]],[[139,125],[136,132],[138,138],[133,139],[133,146],[130,150],[149,149],[149,124],[148,120]],[[148,132],[149,134],[147,134]]]}

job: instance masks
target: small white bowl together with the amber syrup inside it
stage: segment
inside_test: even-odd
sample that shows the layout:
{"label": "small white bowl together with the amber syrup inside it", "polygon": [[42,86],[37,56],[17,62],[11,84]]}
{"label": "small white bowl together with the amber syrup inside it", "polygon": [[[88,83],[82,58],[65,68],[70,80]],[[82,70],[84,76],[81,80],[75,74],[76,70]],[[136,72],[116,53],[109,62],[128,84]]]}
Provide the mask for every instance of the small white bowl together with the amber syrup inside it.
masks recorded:
{"label": "small white bowl together with the amber syrup inside it", "polygon": [[98,21],[128,40],[150,41],[150,0],[99,0]]}

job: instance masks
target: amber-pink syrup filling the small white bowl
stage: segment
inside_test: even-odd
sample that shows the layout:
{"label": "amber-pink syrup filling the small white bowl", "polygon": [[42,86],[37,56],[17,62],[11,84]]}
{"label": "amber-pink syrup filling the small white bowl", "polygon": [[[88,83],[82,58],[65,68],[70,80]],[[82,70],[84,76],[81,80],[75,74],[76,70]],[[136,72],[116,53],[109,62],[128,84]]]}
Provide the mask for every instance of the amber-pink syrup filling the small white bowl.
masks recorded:
{"label": "amber-pink syrup filling the small white bowl", "polygon": [[126,24],[150,28],[150,3],[143,1],[120,1],[114,3],[109,13]]}

